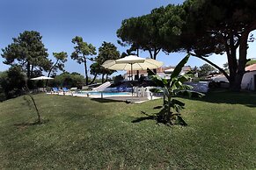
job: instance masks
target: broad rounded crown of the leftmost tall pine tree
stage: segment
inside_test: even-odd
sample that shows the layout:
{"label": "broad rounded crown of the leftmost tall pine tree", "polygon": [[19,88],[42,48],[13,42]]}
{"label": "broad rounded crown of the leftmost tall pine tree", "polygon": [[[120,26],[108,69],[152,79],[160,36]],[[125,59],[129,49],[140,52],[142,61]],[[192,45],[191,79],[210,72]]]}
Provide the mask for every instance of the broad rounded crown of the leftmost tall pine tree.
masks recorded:
{"label": "broad rounded crown of the leftmost tall pine tree", "polygon": [[13,43],[2,49],[4,64],[21,66],[30,78],[35,70],[48,71],[51,62],[48,60],[48,50],[41,41],[39,32],[25,31],[13,38]]}

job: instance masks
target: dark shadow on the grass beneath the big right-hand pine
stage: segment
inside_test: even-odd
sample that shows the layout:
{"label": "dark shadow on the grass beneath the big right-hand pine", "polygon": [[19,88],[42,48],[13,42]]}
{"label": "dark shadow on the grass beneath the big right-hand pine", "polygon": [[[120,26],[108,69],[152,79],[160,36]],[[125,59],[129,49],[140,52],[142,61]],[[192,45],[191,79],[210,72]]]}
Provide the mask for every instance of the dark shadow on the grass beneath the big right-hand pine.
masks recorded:
{"label": "dark shadow on the grass beneath the big right-hand pine", "polygon": [[201,98],[188,98],[188,100],[196,100],[207,103],[227,103],[227,104],[242,104],[247,107],[256,107],[256,93],[255,92],[231,92],[231,91],[221,91],[221,92],[209,92],[206,96]]}

